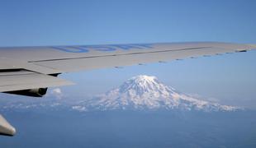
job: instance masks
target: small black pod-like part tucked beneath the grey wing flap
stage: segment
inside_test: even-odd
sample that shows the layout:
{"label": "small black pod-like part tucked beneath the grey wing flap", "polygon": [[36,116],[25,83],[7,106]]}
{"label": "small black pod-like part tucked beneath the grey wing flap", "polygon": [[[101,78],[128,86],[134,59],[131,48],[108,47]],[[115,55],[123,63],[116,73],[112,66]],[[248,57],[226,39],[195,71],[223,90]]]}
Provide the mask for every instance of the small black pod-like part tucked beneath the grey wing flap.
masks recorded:
{"label": "small black pod-like part tucked beneath the grey wing flap", "polygon": [[26,96],[33,96],[33,97],[42,97],[46,94],[48,88],[37,88],[37,89],[30,89],[30,90],[17,90],[17,91],[7,91],[7,94],[14,94],[14,95],[26,95]]}

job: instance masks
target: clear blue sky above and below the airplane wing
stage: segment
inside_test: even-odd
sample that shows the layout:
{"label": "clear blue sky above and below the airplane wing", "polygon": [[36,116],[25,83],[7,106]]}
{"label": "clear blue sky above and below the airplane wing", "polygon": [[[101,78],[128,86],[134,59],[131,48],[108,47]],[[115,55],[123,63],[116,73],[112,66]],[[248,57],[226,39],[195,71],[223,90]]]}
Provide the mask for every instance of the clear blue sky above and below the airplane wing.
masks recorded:
{"label": "clear blue sky above and below the airplane wing", "polygon": [[[222,41],[256,44],[254,0],[1,0],[0,46]],[[256,109],[256,52],[64,74],[69,95],[95,95],[130,76]]]}

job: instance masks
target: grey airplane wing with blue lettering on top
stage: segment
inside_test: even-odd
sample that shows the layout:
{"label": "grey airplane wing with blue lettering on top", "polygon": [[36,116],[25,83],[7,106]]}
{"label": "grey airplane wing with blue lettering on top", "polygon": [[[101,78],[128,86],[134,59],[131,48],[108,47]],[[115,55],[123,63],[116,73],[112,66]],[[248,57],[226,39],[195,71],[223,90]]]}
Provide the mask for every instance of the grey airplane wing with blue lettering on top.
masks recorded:
{"label": "grey airplane wing with blue lettering on top", "polygon": [[63,72],[165,62],[250,49],[256,48],[254,45],[213,42],[0,48],[0,92],[41,96],[49,86],[72,84],[57,78]]}

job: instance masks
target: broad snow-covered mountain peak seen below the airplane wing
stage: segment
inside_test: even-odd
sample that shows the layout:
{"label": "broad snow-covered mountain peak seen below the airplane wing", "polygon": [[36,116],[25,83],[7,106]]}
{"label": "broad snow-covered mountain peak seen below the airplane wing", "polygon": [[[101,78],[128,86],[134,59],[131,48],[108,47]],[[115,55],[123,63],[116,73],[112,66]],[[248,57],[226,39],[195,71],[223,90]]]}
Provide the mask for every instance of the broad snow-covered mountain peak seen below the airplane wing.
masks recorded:
{"label": "broad snow-covered mountain peak seen below the airplane wing", "polygon": [[114,110],[114,109],[182,109],[202,111],[235,111],[239,108],[195,99],[178,93],[172,87],[165,86],[155,76],[134,76],[120,87],[104,95],[81,101],[73,106],[78,110]]}

